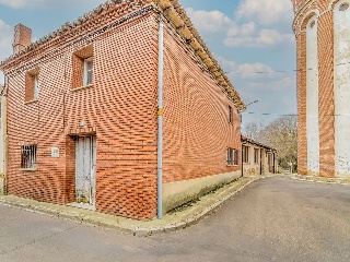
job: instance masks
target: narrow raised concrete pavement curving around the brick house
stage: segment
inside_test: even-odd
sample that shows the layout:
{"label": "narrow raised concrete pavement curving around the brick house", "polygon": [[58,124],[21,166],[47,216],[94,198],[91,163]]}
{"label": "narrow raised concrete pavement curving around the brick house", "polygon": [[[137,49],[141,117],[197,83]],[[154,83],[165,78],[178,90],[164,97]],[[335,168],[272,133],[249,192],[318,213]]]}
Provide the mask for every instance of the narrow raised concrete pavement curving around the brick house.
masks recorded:
{"label": "narrow raised concrete pavement curving around the brick house", "polygon": [[44,203],[14,195],[0,195],[0,204],[147,237],[153,234],[184,229],[198,223],[203,217],[215,212],[226,200],[260,178],[264,177],[240,178],[217,191],[203,195],[197,202],[191,202],[165,214],[162,219],[154,218],[149,222],[102,214],[73,206]]}

